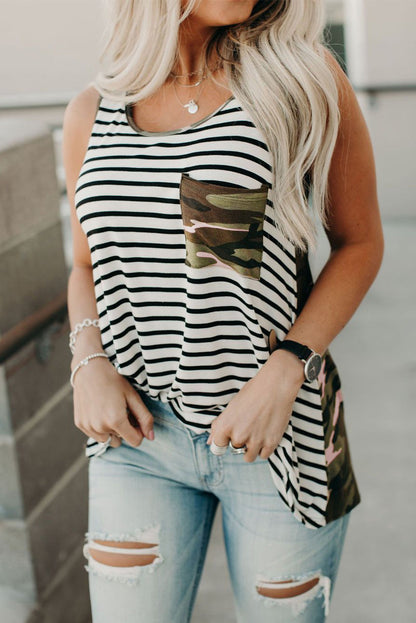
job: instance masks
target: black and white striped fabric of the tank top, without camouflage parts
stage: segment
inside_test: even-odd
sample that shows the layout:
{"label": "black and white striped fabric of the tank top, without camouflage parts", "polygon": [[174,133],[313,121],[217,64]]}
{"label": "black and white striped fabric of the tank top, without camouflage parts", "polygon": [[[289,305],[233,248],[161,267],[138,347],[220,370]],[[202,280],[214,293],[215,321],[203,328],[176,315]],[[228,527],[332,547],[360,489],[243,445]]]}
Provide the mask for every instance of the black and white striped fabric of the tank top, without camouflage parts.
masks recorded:
{"label": "black and white striped fabric of the tank top, without camouflage parts", "polygon": [[[295,249],[273,224],[268,198],[259,280],[217,265],[187,266],[181,173],[244,188],[271,184],[264,137],[235,97],[174,132],[141,132],[127,112],[101,100],[75,195],[103,347],[134,386],[204,431],[266,362],[270,330],[283,339],[296,319]],[[324,525],[318,381],[302,386],[269,464],[294,516]]]}

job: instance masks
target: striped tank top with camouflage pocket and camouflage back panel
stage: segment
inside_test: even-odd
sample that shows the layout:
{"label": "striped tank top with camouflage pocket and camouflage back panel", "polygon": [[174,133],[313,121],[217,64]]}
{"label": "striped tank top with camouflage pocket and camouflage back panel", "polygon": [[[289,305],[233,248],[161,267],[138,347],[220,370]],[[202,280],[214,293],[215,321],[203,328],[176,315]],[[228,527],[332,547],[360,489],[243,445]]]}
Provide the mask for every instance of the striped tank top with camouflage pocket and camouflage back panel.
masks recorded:
{"label": "striped tank top with camouflage pocket and camouflage back panel", "polygon": [[[270,152],[236,96],[185,128],[146,132],[101,98],[76,185],[104,351],[137,390],[193,431],[213,419],[284,339],[313,286],[268,190]],[[302,385],[267,459],[294,517],[318,528],[360,501],[329,353]],[[96,442],[89,438],[86,456]]]}

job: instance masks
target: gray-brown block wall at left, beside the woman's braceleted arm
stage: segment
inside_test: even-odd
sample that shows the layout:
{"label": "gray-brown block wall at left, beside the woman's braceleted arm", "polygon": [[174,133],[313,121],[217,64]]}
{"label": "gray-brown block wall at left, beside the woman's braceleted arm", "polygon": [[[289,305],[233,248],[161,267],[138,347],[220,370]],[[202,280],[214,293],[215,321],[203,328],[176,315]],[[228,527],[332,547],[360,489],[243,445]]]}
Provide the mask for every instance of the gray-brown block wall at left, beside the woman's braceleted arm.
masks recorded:
{"label": "gray-brown block wall at left, beside the woman's braceleted arm", "polygon": [[[66,292],[59,201],[49,129],[0,119],[3,345]],[[90,620],[85,435],[73,422],[68,333],[64,308],[0,363],[2,623]]]}

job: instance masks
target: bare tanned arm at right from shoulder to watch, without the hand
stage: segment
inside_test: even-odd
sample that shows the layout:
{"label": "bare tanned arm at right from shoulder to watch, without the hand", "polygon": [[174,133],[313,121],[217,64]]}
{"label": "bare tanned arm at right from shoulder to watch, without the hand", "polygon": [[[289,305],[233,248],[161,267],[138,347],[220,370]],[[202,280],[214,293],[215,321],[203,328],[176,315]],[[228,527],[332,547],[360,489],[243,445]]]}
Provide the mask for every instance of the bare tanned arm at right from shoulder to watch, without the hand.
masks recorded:
{"label": "bare tanned arm at right from shoulder to watch, without the hand", "polygon": [[[361,303],[379,271],[384,250],[369,132],[347,76],[331,54],[328,62],[337,75],[341,114],[328,180],[326,234],[331,253],[286,336],[319,353],[325,351]],[[272,358],[278,353],[274,351]]]}

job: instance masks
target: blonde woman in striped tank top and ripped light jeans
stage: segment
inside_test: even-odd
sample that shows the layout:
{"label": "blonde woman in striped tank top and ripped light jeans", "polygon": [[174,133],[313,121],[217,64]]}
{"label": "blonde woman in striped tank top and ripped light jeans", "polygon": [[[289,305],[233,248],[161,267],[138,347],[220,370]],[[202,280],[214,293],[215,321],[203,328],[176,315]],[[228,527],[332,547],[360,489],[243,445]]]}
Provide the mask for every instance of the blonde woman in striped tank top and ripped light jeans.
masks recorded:
{"label": "blonde woman in striped tank top and ripped light jeans", "polygon": [[95,623],[189,621],[218,502],[237,620],[328,614],[360,502],[328,345],[383,236],[322,4],[113,0],[66,110]]}

